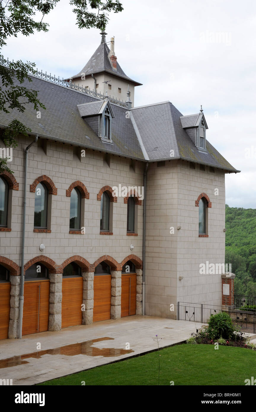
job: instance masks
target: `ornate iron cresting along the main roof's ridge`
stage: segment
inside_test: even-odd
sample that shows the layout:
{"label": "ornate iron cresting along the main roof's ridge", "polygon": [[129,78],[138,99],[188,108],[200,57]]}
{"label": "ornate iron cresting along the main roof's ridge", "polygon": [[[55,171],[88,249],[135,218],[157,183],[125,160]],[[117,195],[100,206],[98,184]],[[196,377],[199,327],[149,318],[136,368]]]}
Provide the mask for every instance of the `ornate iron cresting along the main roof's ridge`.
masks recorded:
{"label": "ornate iron cresting along the main roof's ridge", "polygon": [[[11,61],[8,58],[4,59],[4,57],[2,55],[0,55],[0,64],[2,66],[9,67],[10,62]],[[12,62],[14,62],[14,61],[12,61]],[[65,80],[63,78],[60,79],[59,76],[58,77],[56,77],[55,75],[52,76],[51,73],[50,74],[47,74],[47,72],[43,73],[42,70],[41,71],[39,71],[37,69],[28,70],[28,74],[31,75],[31,76],[37,77],[39,79],[47,80],[47,82],[51,82],[51,83],[54,83],[54,84],[59,84],[60,86],[64,86],[64,87],[67,87],[67,88],[72,89],[72,90],[80,91],[81,93],[88,94],[88,96],[92,96],[92,97],[98,98],[100,100],[103,100],[105,98],[104,94],[102,94],[102,93],[98,93],[97,91],[91,90],[89,88],[87,89],[86,87],[80,86],[79,84],[75,84],[73,82],[68,82],[67,80]],[[124,102],[123,100],[121,101],[121,100],[116,99],[112,96],[107,96],[107,98],[111,103],[122,106],[124,108],[127,107],[126,102]]]}

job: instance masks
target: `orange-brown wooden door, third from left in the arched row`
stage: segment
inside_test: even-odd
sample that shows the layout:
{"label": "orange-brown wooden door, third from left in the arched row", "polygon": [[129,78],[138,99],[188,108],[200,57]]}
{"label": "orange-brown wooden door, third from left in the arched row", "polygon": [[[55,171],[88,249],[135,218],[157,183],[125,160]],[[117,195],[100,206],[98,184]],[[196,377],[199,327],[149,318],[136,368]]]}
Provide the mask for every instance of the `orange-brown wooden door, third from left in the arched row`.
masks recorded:
{"label": "orange-brown wooden door, third from left in the arched row", "polygon": [[82,324],[81,304],[83,303],[83,277],[63,276],[61,328]]}

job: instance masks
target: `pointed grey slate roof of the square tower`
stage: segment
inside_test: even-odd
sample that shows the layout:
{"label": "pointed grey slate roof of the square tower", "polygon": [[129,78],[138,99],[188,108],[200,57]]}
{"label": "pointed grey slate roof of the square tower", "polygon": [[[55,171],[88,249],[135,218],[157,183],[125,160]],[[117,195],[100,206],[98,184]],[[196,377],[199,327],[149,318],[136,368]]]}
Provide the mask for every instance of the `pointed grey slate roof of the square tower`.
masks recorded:
{"label": "pointed grey slate roof of the square tower", "polygon": [[77,73],[77,75],[72,76],[72,78],[75,79],[77,77],[81,77],[83,73],[84,75],[88,76],[91,74],[106,72],[114,76],[122,77],[123,79],[135,84],[135,86],[140,86],[142,83],[138,83],[135,80],[130,79],[130,77],[126,76],[126,74],[121,69],[118,61],[116,61],[117,70],[114,70],[112,68],[112,65],[108,58],[109,52],[110,49],[107,46],[107,44],[101,43],[98,49],[96,49],[93,55],[91,56],[91,59],[86,63],[84,68],[82,68],[82,70],[79,73]]}

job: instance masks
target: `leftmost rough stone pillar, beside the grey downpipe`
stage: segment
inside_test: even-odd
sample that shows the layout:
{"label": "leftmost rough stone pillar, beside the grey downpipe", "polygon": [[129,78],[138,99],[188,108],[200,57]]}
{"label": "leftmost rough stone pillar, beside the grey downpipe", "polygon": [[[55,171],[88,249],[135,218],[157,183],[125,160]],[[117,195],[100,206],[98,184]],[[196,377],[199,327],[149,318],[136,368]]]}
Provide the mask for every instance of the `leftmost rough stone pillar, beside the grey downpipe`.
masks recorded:
{"label": "leftmost rough stone pillar, beside the grey downpipe", "polygon": [[11,282],[11,299],[10,299],[10,322],[9,322],[9,339],[19,337],[19,295],[21,276],[10,275]]}

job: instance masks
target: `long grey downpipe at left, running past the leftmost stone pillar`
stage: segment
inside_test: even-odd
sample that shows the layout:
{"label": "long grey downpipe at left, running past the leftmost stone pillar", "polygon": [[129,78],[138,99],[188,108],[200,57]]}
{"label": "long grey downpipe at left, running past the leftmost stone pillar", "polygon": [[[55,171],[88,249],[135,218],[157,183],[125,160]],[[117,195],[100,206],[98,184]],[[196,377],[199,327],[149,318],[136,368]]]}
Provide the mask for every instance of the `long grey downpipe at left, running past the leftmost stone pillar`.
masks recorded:
{"label": "long grey downpipe at left, running past the leftmost stone pillar", "polygon": [[27,169],[28,169],[28,150],[36,143],[38,135],[33,142],[25,149],[25,166],[24,166],[24,187],[23,187],[23,218],[22,218],[22,235],[21,235],[21,286],[20,286],[20,304],[19,304],[19,339],[22,338],[22,320],[23,320],[23,303],[24,303],[24,248],[25,248],[25,227],[26,227],[26,197],[27,197]]}

